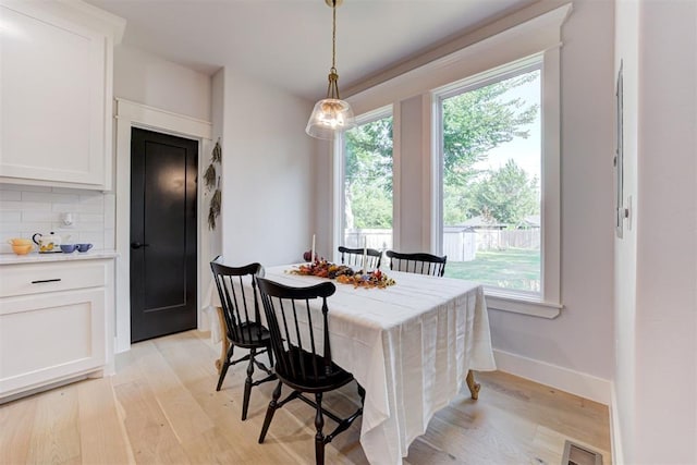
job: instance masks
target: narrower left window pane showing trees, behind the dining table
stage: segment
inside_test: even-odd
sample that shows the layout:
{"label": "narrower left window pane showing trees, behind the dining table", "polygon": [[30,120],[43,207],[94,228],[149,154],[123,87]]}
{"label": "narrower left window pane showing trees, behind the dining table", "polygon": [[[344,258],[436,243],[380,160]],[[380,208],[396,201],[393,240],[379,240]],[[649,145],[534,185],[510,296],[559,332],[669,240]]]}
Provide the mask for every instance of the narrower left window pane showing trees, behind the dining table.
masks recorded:
{"label": "narrower left window pane showing trees, behind the dining table", "polygon": [[344,135],[344,245],[392,247],[392,117]]}

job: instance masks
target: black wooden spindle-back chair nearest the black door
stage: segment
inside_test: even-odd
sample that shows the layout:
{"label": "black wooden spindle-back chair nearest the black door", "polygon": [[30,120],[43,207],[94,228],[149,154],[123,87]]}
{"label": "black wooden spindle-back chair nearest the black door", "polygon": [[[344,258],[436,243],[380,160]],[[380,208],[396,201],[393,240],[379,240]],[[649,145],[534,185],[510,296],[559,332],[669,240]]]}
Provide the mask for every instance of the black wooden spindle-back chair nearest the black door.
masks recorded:
{"label": "black wooden spindle-back chair nearest the black door", "polygon": [[[220,391],[222,381],[228,374],[228,368],[240,362],[249,360],[247,379],[244,384],[244,399],[242,401],[242,419],[245,420],[247,418],[247,408],[249,407],[252,387],[276,379],[271,369],[257,359],[258,355],[268,353],[269,362],[273,366],[271,338],[269,330],[261,325],[261,313],[259,310],[255,280],[257,276],[264,276],[264,268],[259,264],[250,264],[239,268],[227,267],[217,262],[218,258],[210,262],[210,268],[218,287],[218,295],[220,296],[220,305],[225,320],[225,336],[230,341],[230,348],[228,350],[227,359],[220,369],[220,378],[218,379],[216,391]],[[245,285],[247,290],[250,286],[253,296],[249,296],[248,291],[245,293]],[[233,360],[232,353],[235,346],[247,348],[249,353]],[[254,375],[255,365],[268,376],[254,381],[252,376]]]}

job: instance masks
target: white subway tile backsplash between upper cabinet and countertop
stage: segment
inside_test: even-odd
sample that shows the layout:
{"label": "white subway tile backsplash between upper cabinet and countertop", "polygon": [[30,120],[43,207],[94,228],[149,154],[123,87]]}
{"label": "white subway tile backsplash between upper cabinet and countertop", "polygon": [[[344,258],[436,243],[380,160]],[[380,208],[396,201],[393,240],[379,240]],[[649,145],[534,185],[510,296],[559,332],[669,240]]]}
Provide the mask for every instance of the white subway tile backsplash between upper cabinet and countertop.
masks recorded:
{"label": "white subway tile backsplash between upper cabinet and countertop", "polygon": [[[63,224],[71,213],[73,224]],[[70,243],[91,243],[96,249],[114,248],[113,193],[0,183],[0,253],[11,253],[12,237],[30,238],[53,231]]]}

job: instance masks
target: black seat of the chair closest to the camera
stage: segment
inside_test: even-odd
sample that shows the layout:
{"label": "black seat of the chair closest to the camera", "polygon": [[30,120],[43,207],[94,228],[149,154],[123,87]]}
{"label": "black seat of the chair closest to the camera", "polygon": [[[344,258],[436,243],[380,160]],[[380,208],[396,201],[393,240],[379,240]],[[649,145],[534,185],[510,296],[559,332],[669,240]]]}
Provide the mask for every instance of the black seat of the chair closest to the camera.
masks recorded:
{"label": "black seat of the chair closest to the camera", "polygon": [[[306,351],[298,351],[292,348],[286,351],[289,358],[293,360],[293,364],[305,364],[306,369],[314,375],[313,363],[317,363],[318,377],[315,378],[299,375],[301,370],[296,370],[297,375],[292,372],[284,372],[280,365],[276,366],[276,375],[281,378],[291,388],[303,392],[326,392],[333,389],[341,388],[342,386],[353,381],[353,375],[341,368],[339,365],[332,363],[329,370],[325,370],[325,360],[320,356],[315,356]],[[314,360],[315,359],[315,360]],[[329,372],[326,372],[329,371]]]}

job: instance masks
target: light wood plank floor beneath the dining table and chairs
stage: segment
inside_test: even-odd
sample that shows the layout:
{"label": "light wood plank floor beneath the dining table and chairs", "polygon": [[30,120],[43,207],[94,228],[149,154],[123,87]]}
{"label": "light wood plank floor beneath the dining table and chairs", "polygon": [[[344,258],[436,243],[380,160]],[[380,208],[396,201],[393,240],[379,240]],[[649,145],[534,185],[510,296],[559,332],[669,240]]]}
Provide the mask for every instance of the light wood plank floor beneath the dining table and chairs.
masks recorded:
{"label": "light wood plank floor beneath the dining table and chairs", "polygon": [[[258,444],[273,383],[252,391],[241,421],[245,368],[233,367],[216,392],[218,351],[198,331],[142,342],[117,357],[113,377],[0,406],[0,464],[314,463],[314,411],[291,402]],[[610,463],[606,406],[502,372],[477,380],[479,400],[465,387],[413,442],[406,464],[557,465],[565,439]],[[352,383],[325,399],[343,413],[357,395]],[[359,429],[358,420],[327,446],[328,463],[367,463]]]}

